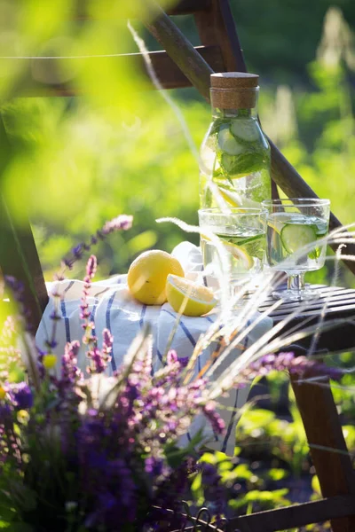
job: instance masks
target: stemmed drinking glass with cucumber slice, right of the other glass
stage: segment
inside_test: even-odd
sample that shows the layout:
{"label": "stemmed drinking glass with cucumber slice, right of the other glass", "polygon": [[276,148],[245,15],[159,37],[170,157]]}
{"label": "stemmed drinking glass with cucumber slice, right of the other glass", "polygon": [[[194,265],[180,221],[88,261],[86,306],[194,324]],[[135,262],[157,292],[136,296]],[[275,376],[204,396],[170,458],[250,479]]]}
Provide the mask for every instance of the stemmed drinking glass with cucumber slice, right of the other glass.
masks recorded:
{"label": "stemmed drinking glass with cucumber slice, right of the other glass", "polygon": [[306,271],[320,270],[326,260],[330,201],[309,198],[264,200],[267,208],[266,257],[274,270],[285,271],[288,287],[275,299],[303,301],[319,296],[304,285]]}

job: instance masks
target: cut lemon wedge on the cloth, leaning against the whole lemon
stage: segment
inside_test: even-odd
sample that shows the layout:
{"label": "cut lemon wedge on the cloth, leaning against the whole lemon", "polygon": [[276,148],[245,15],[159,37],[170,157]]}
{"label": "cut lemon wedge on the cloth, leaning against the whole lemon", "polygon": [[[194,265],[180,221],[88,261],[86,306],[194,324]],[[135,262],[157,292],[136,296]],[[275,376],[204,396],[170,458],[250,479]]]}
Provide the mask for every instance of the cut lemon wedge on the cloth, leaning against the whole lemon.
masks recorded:
{"label": "cut lemon wedge on the cloth, leaning against the whole lemon", "polygon": [[197,285],[171,273],[167,278],[166,294],[175,312],[185,316],[202,316],[217,304],[213,292],[207,286]]}

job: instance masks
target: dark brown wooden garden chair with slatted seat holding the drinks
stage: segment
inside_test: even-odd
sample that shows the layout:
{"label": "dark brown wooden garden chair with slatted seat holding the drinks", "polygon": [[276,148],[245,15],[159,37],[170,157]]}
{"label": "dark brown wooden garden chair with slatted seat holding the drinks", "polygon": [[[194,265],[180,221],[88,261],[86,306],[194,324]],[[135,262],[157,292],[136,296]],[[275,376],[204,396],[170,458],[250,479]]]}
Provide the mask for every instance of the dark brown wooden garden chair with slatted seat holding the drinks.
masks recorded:
{"label": "dark brown wooden garden chair with slatted seat holding the drinks", "polygon": [[[193,15],[201,39],[201,46],[196,48],[193,48],[181,34],[168,14],[161,12],[156,5],[154,9],[158,13],[157,18],[147,27],[162,43],[164,51],[150,52],[149,56],[162,87],[171,89],[194,85],[208,99],[210,73],[225,70],[246,71],[228,0],[181,0],[170,11],[169,15]],[[138,67],[145,70],[143,57],[140,54],[134,54],[134,57]],[[53,62],[55,66],[55,59]],[[75,95],[75,81],[70,84],[58,83],[45,87],[28,78],[28,91],[37,95],[44,93],[72,96]],[[0,121],[0,145],[2,151],[0,170],[4,170],[7,160],[11,157],[11,146],[3,121]],[[272,145],[272,178],[289,197],[316,197],[274,145]],[[1,270],[4,274],[13,275],[24,282],[25,303],[32,311],[33,325],[36,326],[48,301],[48,295],[35,241],[29,223],[17,226],[5,205],[4,198],[1,197],[1,200]],[[335,216],[331,215],[331,228],[339,225]],[[355,254],[352,246],[348,248],[349,254]],[[24,262],[20,259],[25,259],[26,266],[23,266]],[[347,265],[355,272],[355,262],[349,262]],[[326,292],[330,293],[327,317],[355,317],[355,291],[328,288]],[[262,309],[267,308],[270,303],[271,301],[266,301]],[[272,317],[277,322],[282,317],[288,316],[292,309],[292,304],[285,303],[273,312]],[[304,318],[312,317],[316,320],[318,314],[319,303],[316,302],[288,326],[298,325]],[[353,327],[345,324],[343,329],[338,329],[337,332],[322,333],[318,347],[337,351],[353,348],[354,336]],[[334,532],[354,531],[355,478],[333,395],[329,387],[319,387],[311,383],[300,384],[297,383],[297,379],[292,379],[292,386],[304,420],[312,460],[324,498],[303,505],[241,516],[231,520],[227,529],[232,531],[238,528],[241,532],[261,530],[272,532],[331,520]]]}

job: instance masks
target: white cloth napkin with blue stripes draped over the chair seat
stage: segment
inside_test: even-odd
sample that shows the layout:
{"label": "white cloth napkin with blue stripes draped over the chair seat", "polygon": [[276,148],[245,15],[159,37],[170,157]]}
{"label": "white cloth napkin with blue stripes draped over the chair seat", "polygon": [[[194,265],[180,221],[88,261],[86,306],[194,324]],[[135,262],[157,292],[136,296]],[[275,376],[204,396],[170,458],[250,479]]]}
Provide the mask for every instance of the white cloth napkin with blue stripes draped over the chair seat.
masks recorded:
{"label": "white cloth napkin with blue stripes draped over the chair seat", "polygon": [[[173,250],[172,254],[181,263],[186,277],[194,277],[196,276],[196,272],[202,270],[201,249],[193,246],[190,242],[182,242]],[[156,372],[162,367],[162,356],[170,338],[170,333],[176,323],[177,313],[170,307],[169,303],[165,303],[162,306],[147,306],[135,301],[130,296],[126,279],[127,275],[119,275],[104,281],[92,283],[90,297],[88,298],[91,320],[95,325],[94,333],[97,333],[99,338],[99,347],[101,342],[100,332],[103,329],[109,329],[114,336],[112,361],[107,367],[106,372],[108,375],[112,375],[122,364],[123,357],[130,347],[130,343],[147,322],[151,324],[153,329],[153,361],[154,372]],[[83,281],[76,279],[56,281],[54,283],[48,283],[47,288],[50,294],[55,288],[56,291],[63,295],[60,302],[60,320],[57,325],[58,345],[55,348],[55,353],[60,357],[64,353],[64,347],[67,341],[80,340],[83,336],[79,308],[83,293]],[[53,301],[50,298],[36,334],[36,342],[39,348],[44,348],[44,342],[49,338],[49,332],[51,332],[52,326],[52,311]],[[257,316],[258,313],[256,312],[253,319],[256,319]],[[177,356],[191,356],[201,333],[206,332],[215,319],[216,314],[213,313],[203,317],[181,317],[177,332],[171,343],[171,348],[176,349]],[[250,321],[253,321],[253,319]],[[271,318],[266,317],[261,320],[248,333],[247,338],[244,340],[245,347],[251,345],[264,332],[269,331],[271,327]],[[197,360],[196,374],[209,360],[211,350],[212,347],[205,349]],[[235,349],[233,351],[233,358],[239,356],[240,353],[241,351]],[[78,355],[78,365],[83,371],[85,371],[87,362],[82,348]],[[220,371],[223,371],[223,369],[225,368],[221,367]],[[219,413],[225,419],[227,430],[226,434],[217,440],[214,434],[208,434],[208,429],[206,428],[205,435],[210,436],[214,441],[210,444],[211,447],[233,454],[236,425],[235,411],[241,408],[247,401],[247,397],[248,388],[243,388],[241,390],[232,390],[228,397],[221,398],[220,403],[227,408],[221,408]],[[186,438],[190,438],[197,428],[201,426],[201,423],[201,419],[195,419]],[[203,423],[205,422],[203,421]]]}

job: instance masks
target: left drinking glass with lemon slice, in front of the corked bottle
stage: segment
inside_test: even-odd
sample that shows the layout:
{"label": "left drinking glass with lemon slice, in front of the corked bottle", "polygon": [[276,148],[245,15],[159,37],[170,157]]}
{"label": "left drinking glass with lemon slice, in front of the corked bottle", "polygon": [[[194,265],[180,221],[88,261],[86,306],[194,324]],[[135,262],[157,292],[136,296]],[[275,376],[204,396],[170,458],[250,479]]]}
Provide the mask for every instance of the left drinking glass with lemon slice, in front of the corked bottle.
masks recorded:
{"label": "left drinking glass with lemon slice, in front of the corked bottle", "polygon": [[[218,207],[199,210],[205,273],[227,279],[231,295],[263,269],[267,211],[264,208]],[[217,240],[210,236],[216,236]]]}

